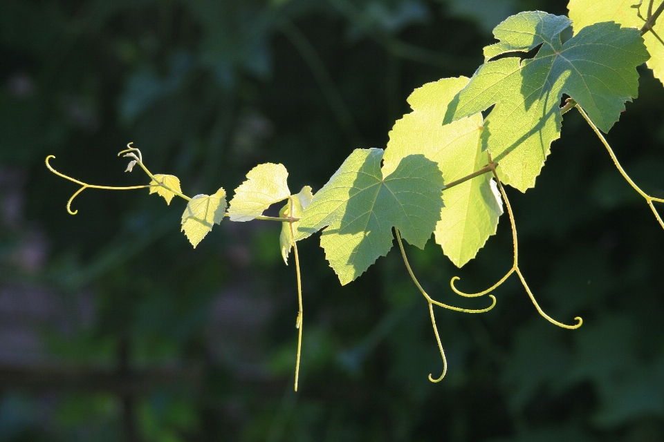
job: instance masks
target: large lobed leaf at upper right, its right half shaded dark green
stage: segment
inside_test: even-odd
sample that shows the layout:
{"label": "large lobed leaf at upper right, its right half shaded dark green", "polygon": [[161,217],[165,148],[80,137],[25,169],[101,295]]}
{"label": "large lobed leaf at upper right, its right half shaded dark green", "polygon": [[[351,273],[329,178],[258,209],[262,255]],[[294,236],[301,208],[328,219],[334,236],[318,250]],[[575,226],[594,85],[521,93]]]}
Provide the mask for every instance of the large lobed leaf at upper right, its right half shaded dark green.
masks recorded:
{"label": "large lobed leaf at upper right, its right half shaded dark green", "polygon": [[596,23],[560,42],[571,21],[544,12],[522,12],[494,30],[499,43],[484,48],[486,59],[542,44],[533,59],[487,61],[455,98],[445,115],[449,123],[484,111],[481,135],[499,162],[501,180],[520,191],[535,185],[551,142],[560,137],[560,101],[566,93],[604,132],[618,121],[625,102],[638,93],[636,66],[649,55],[638,30]]}

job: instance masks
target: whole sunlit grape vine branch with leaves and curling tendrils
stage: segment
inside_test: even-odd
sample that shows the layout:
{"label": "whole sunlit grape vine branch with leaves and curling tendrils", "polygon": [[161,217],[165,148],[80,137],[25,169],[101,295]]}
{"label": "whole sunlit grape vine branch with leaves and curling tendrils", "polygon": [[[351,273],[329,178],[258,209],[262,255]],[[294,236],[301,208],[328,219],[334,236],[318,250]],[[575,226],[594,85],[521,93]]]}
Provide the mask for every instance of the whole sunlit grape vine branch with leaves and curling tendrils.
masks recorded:
{"label": "whole sunlit grape vine branch with leaves and curling tendrils", "polygon": [[[414,90],[408,98],[412,113],[399,119],[389,133],[385,150],[356,149],[322,189],[315,194],[304,186],[293,194],[288,171],[282,164],[259,164],[226,202],[223,188],[212,195],[192,198],[181,191],[174,175],[153,174],[138,148],[120,151],[130,159],[126,171],[138,165],[150,178],[141,186],[88,184],[46,166],[56,175],[80,186],[66,204],[86,189],[149,189],[170,204],[175,196],[187,201],[181,228],[195,248],[228,217],[234,222],[268,220],[282,223],[279,247],[284,262],[293,249],[299,311],[295,390],[299,380],[304,314],[297,242],[322,231],[321,247],[342,285],[358,278],[398,243],[403,262],[417,289],[427,301],[432,328],[448,366],[434,316],[434,305],[465,313],[483,313],[496,305],[492,294],[513,273],[519,277],[537,311],[549,322],[566,329],[582,325],[582,318],[567,325],[548,316],[538,305],[519,268],[515,215],[504,184],[525,192],[535,186],[551,143],[560,138],[562,115],[575,108],[607,148],[620,174],[647,202],[656,220],[664,222],[654,198],[642,191],[625,173],[602,133],[608,133],[625,111],[625,102],[638,95],[637,66],[647,62],[664,81],[664,41],[657,23],[664,2],[647,12],[643,1],[629,5],[616,0],[571,0],[569,17],[546,12],[522,12],[494,30],[498,43],[484,48],[485,63],[474,75],[445,78]],[[573,37],[562,41],[562,32],[573,28]],[[515,52],[535,50],[534,57],[520,59]],[[564,106],[560,107],[564,95]],[[486,113],[483,117],[482,113]],[[447,183],[447,184],[445,184]],[[285,202],[278,217],[263,215],[273,204]],[[491,305],[462,309],[434,300],[418,282],[409,264],[403,240],[423,249],[434,233],[443,253],[462,267],[477,255],[496,233],[506,207],[513,237],[513,264],[498,282],[477,293],[457,288],[463,297],[488,295]]]}

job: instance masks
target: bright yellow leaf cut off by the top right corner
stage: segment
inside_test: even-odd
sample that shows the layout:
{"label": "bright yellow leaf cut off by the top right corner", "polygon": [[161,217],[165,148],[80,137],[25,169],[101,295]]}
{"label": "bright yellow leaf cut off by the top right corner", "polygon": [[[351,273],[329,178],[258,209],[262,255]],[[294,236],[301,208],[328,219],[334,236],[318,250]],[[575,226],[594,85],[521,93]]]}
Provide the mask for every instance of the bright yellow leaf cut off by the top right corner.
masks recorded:
{"label": "bright yellow leaf cut off by the top right corner", "polygon": [[[600,21],[615,21],[625,27],[640,29],[645,21],[638,17],[636,8],[631,8],[636,4],[638,4],[636,0],[571,0],[567,9],[569,9],[569,18],[573,21],[574,33]],[[655,3],[655,8],[657,6]],[[645,18],[647,11],[646,0],[640,7],[641,16]],[[660,16],[652,27],[660,38],[664,38],[663,22],[664,19]],[[652,32],[643,35],[643,39],[650,53],[648,67],[652,69],[655,77],[664,83],[664,44]]]}

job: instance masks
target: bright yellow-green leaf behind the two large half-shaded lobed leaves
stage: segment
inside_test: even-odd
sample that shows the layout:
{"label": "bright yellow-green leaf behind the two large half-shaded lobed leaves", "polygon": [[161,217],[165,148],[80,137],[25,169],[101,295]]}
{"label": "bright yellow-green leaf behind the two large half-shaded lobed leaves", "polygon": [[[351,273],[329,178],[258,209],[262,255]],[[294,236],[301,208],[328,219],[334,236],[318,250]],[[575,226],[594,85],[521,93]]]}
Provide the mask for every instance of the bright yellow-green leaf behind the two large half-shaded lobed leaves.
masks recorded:
{"label": "bright yellow-green leaf behind the two large half-shaded lobed leaves", "polygon": [[[488,155],[479,144],[481,113],[442,124],[448,104],[466,84],[466,77],[445,78],[414,90],[408,97],[413,112],[398,120],[389,133],[382,173],[391,173],[401,158],[414,153],[436,162],[445,182],[488,164]],[[443,199],[445,207],[434,235],[443,253],[461,267],[496,233],[502,213],[500,195],[486,173],[443,191]]]}

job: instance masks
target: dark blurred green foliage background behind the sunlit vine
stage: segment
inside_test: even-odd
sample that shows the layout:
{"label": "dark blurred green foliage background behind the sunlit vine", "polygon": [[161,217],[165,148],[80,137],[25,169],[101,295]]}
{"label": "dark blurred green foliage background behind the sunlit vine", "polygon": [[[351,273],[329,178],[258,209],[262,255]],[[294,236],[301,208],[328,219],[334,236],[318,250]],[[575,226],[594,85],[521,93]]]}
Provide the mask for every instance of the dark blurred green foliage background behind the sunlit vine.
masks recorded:
{"label": "dark blurred green foliage background behind the sunlit vine", "polygon": [[[636,1],[635,1],[636,3]],[[436,311],[393,249],[341,287],[317,238],[295,268],[270,222],[215,227],[195,250],[182,200],[123,173],[128,142],[188,195],[228,193],[280,162],[320,187],[353,148],[385,147],[412,90],[470,76],[490,30],[547,0],[2,0],[0,2],[0,442],[662,441],[664,231],[580,115],[537,187],[508,189],[522,269],[481,315]],[[664,195],[664,88],[609,133],[636,182]],[[275,212],[276,213],[276,212]],[[456,269],[407,247],[437,299],[484,289],[511,262],[506,218]]]}

